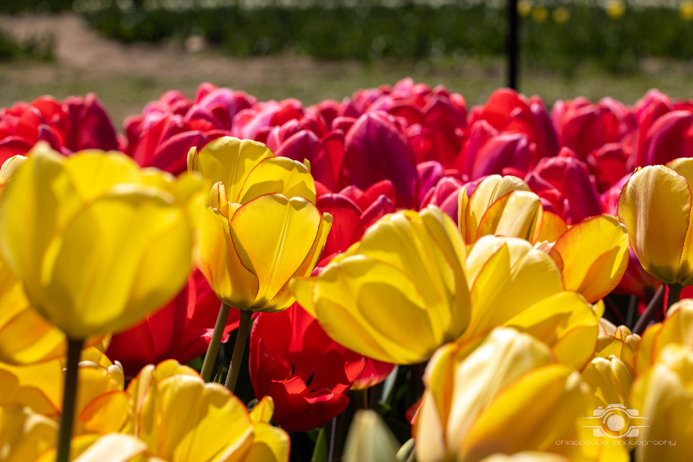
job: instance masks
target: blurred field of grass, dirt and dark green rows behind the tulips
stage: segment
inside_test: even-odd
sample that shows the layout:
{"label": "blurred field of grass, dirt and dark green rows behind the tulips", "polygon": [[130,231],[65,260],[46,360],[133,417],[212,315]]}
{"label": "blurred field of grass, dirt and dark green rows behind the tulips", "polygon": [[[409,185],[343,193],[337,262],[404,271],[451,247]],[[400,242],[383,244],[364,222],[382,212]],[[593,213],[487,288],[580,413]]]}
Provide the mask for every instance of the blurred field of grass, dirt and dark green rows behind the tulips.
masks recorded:
{"label": "blurred field of grass, dirt and dark green rows behind the tulips", "polygon": [[[118,121],[209,80],[304,103],[410,75],[482,103],[505,85],[505,1],[5,0],[0,105],[95,91]],[[692,96],[693,1],[520,0],[520,91]]]}

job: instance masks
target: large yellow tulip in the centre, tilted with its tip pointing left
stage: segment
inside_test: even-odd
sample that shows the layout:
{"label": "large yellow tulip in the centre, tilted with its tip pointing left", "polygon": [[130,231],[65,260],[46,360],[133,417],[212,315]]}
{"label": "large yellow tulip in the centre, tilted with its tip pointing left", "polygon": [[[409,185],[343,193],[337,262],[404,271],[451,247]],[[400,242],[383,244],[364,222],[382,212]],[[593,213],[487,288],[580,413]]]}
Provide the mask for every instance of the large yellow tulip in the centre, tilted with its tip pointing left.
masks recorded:
{"label": "large yellow tulip in the centre, tilted with its tip pointing left", "polygon": [[439,208],[400,211],[378,220],[318,276],[294,278],[290,288],[338,343],[413,364],[468,325],[464,254],[455,223]]}

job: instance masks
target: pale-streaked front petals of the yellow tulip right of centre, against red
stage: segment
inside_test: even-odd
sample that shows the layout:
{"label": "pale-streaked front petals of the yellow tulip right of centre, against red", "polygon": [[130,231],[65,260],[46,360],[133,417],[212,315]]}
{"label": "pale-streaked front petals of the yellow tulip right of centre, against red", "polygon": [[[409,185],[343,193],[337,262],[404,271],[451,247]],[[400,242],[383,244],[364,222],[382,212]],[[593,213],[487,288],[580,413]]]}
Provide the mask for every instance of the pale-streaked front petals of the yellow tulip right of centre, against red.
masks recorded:
{"label": "pale-streaked front petals of the yellow tulip right of centre, against red", "polygon": [[512,191],[489,206],[479,221],[476,238],[493,234],[536,242],[541,231],[543,208],[538,195]]}

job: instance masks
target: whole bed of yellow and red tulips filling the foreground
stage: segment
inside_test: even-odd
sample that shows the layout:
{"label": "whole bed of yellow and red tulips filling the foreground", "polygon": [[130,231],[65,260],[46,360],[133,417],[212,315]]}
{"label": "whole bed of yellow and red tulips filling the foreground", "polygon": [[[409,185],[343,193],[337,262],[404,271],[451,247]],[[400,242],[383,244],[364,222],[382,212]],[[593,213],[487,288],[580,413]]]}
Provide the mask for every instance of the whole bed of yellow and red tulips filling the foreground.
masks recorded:
{"label": "whole bed of yellow and red tulips filling the foreground", "polygon": [[0,109],[1,461],[687,461],[693,102]]}

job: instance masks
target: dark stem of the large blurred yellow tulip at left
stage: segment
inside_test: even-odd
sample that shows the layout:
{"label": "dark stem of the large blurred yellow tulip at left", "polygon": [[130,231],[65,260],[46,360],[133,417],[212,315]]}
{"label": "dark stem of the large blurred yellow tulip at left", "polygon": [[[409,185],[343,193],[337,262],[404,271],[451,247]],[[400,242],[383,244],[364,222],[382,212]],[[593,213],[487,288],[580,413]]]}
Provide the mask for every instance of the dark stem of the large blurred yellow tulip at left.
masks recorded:
{"label": "dark stem of the large blurred yellow tulip at left", "polygon": [[58,449],[55,453],[56,462],[68,462],[70,459],[70,443],[72,426],[75,420],[75,401],[77,398],[77,375],[80,366],[84,340],[67,339],[67,372],[65,387],[62,392],[62,412],[60,413],[60,429],[58,430]]}

